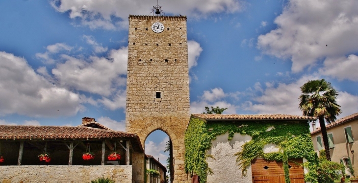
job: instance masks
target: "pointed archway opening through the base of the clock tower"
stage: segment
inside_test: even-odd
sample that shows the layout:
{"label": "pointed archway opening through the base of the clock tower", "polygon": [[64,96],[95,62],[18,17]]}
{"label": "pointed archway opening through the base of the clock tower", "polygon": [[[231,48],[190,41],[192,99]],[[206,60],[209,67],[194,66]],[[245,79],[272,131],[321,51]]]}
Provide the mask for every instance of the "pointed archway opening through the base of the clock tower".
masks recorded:
{"label": "pointed archway opening through the base of the clock tower", "polygon": [[[162,183],[163,178],[151,176],[153,170],[159,171],[160,165],[155,165],[156,161],[160,162],[166,168],[164,182],[172,183],[174,181],[174,164],[173,164],[173,145],[170,137],[161,130],[155,130],[148,135],[144,145],[146,154],[146,171],[147,183]],[[154,160],[153,160],[154,159]],[[166,181],[167,180],[167,181]]]}

